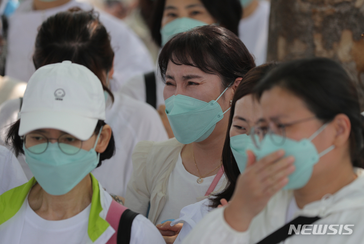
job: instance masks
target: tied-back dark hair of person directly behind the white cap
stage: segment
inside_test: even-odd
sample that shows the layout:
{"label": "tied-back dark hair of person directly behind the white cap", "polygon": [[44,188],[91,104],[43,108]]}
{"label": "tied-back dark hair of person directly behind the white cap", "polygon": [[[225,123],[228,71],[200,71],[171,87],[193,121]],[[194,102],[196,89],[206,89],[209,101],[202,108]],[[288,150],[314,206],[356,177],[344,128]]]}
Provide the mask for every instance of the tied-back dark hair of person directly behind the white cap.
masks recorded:
{"label": "tied-back dark hair of person directly behind the white cap", "polygon": [[49,17],[39,27],[33,55],[35,69],[65,60],[91,70],[114,101],[103,73],[111,70],[114,51],[106,28],[93,10],[72,8]]}

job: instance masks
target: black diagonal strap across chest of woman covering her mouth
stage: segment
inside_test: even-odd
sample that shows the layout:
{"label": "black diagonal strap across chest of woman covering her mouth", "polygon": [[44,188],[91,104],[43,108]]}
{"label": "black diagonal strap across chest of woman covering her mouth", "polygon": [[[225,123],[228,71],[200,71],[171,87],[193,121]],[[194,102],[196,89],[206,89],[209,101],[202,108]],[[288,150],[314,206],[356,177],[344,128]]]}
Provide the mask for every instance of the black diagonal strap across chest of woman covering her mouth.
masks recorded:
{"label": "black diagonal strap across chest of woman covering her mouth", "polygon": [[287,223],[286,225],[284,225],[280,229],[276,230],[275,232],[271,233],[270,235],[268,235],[261,241],[257,242],[256,244],[277,244],[295,234],[294,231],[292,231],[291,234],[288,234],[291,224],[297,228],[298,225],[303,226],[305,224],[312,224],[313,222],[315,222],[319,219],[321,219],[321,218],[320,217],[298,216],[297,218],[295,218],[291,222]]}

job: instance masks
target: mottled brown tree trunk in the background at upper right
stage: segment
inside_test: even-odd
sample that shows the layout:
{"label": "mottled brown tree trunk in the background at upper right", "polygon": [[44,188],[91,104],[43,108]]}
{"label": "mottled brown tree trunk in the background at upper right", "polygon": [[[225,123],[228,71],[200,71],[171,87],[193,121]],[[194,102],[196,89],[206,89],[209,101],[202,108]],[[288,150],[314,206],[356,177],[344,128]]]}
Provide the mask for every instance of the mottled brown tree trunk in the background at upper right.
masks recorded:
{"label": "mottled brown tree trunk in the background at upper right", "polygon": [[326,57],[356,82],[364,108],[364,0],[271,0],[268,60]]}

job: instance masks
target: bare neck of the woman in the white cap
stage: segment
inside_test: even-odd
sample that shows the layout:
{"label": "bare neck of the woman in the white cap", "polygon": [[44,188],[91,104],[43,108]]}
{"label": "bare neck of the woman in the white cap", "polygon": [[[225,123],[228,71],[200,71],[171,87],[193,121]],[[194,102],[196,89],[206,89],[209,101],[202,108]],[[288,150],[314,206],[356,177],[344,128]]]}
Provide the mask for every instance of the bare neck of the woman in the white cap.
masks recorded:
{"label": "bare neck of the woman in the white cap", "polygon": [[71,218],[90,203],[93,195],[92,180],[88,174],[72,190],[61,196],[45,192],[39,184],[35,184],[29,192],[29,206],[34,212],[47,220]]}

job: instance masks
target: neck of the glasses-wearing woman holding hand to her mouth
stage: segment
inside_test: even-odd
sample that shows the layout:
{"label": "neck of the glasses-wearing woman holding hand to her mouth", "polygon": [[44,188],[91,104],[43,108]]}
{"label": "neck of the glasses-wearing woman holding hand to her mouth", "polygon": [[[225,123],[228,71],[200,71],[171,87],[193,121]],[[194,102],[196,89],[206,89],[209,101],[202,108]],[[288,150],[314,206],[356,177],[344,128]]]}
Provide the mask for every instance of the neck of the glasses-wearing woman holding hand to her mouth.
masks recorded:
{"label": "neck of the glasses-wearing woman holding hand to her mouth", "polygon": [[340,169],[326,173],[325,177],[311,177],[308,183],[301,189],[294,191],[294,197],[299,208],[321,200],[326,194],[334,194],[345,185],[350,184],[357,177],[353,172],[350,159],[341,164]]}

